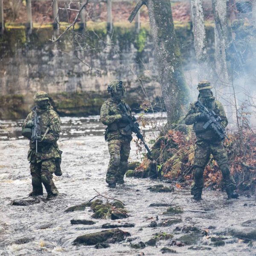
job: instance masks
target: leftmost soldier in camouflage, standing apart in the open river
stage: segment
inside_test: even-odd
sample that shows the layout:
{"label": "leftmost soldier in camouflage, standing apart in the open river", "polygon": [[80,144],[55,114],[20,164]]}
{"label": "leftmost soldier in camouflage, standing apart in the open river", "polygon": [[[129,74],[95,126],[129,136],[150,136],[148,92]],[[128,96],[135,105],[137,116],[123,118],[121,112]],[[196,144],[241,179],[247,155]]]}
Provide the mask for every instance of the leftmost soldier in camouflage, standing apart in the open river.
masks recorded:
{"label": "leftmost soldier in camouflage, standing apart in the open river", "polygon": [[47,191],[47,197],[58,195],[58,189],[52,181],[52,174],[56,171],[61,159],[61,151],[58,149],[57,140],[61,131],[61,122],[58,114],[49,103],[48,94],[39,91],[33,97],[35,107],[24,121],[22,128],[32,128],[32,119],[35,116],[33,110],[36,109],[41,128],[41,136],[38,137],[38,153],[35,150],[35,142],[29,141],[28,160],[30,162],[30,172],[32,176],[33,190],[29,196],[43,195],[43,186]]}

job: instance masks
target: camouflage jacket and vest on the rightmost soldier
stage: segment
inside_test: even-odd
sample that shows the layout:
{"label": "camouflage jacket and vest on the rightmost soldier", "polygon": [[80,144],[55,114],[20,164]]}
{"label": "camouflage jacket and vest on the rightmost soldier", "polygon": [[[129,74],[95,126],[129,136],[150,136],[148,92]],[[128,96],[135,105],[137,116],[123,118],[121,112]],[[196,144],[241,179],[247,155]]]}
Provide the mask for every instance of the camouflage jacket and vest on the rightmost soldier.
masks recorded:
{"label": "camouflage jacket and vest on the rightmost soldier", "polygon": [[[227,126],[227,116],[225,110],[221,104],[215,100],[214,97],[211,97],[207,104],[204,103],[203,98],[198,97],[198,99],[205,105],[205,107],[211,111],[213,110],[217,116],[221,117],[221,125],[225,128]],[[197,107],[195,107],[195,103],[193,102],[189,106],[189,110],[184,117],[184,121],[186,125],[193,125],[193,129],[195,131],[196,137],[202,140],[219,140],[217,134],[212,128],[204,129],[203,126],[206,122],[198,122],[197,118],[200,115],[200,111]]]}

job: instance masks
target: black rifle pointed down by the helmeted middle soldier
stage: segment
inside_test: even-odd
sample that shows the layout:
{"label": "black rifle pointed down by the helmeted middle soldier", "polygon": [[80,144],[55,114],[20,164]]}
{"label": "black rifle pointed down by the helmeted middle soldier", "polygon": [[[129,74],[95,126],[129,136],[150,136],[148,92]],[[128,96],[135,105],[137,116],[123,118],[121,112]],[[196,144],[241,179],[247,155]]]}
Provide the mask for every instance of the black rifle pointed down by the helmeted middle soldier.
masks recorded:
{"label": "black rifle pointed down by the helmeted middle soldier", "polygon": [[129,123],[128,123],[128,125],[124,128],[124,130],[125,130],[125,131],[129,131],[129,130],[131,129],[131,131],[133,131],[133,132],[136,134],[137,138],[140,139],[140,140],[143,142],[143,144],[144,144],[146,150],[148,151],[148,154],[150,155],[150,157],[152,157],[152,153],[151,153],[150,149],[148,148],[148,145],[145,143],[142,134],[140,133],[139,124],[138,124],[138,122],[137,122],[136,117],[135,117],[135,116],[131,116],[131,115],[128,113],[127,108],[125,107],[125,105],[124,105],[122,102],[120,102],[120,103],[117,105],[117,107],[119,107],[119,109],[122,111],[122,113],[123,113],[125,116],[127,116],[127,117],[129,118]]}

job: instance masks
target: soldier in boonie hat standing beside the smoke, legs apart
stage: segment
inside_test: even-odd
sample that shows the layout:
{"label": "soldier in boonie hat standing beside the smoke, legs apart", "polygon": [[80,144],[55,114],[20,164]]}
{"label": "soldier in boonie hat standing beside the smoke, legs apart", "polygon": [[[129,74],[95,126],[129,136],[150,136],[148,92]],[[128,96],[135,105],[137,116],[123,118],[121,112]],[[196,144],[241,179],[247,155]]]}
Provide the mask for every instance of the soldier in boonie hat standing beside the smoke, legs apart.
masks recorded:
{"label": "soldier in boonie hat standing beside the smoke, legs apart", "polygon": [[[220,102],[215,100],[212,96],[212,86],[209,81],[203,80],[198,84],[199,90],[198,99],[209,110],[213,110],[218,116],[221,117],[221,125],[225,128],[227,126],[227,117],[223,106]],[[195,158],[194,158],[194,181],[191,187],[191,195],[195,200],[201,200],[202,189],[204,186],[204,168],[209,161],[210,154],[213,155],[218,163],[222,172],[222,179],[226,189],[228,198],[237,198],[238,194],[234,192],[236,183],[230,175],[230,169],[227,159],[227,152],[224,148],[223,142],[219,139],[217,134],[212,128],[204,129],[203,126],[207,122],[204,113],[201,113],[195,106],[195,102],[190,105],[188,112],[184,118],[186,125],[194,125],[197,141],[195,145]]]}

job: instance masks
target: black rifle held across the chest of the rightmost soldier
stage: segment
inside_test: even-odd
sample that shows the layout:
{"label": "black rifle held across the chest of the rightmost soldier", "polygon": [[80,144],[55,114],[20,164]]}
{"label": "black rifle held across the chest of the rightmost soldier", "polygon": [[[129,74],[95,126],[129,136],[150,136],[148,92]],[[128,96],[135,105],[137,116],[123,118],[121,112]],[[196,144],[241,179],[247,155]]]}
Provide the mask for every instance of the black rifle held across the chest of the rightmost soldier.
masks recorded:
{"label": "black rifle held across the chest of the rightmost soldier", "polygon": [[221,117],[217,116],[213,110],[209,111],[200,100],[195,103],[195,106],[198,107],[199,111],[204,113],[207,118],[207,122],[204,124],[203,128],[207,129],[210,126],[221,140],[224,140],[225,137],[228,139],[225,129],[220,124],[222,120]]}

